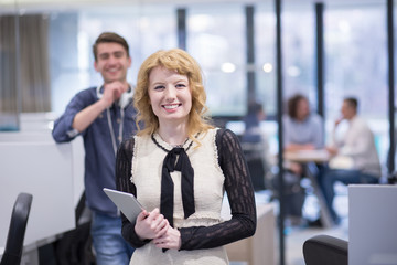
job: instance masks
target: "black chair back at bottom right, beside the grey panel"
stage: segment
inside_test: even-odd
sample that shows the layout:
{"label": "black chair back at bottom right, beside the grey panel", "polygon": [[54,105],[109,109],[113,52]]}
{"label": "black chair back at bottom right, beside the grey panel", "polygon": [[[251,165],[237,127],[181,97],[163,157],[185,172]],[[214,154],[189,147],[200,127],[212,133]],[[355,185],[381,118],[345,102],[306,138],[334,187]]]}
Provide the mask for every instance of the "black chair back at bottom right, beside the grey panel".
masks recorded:
{"label": "black chair back at bottom right, beside the grey panel", "polygon": [[347,241],[315,235],[303,243],[307,265],[347,265]]}

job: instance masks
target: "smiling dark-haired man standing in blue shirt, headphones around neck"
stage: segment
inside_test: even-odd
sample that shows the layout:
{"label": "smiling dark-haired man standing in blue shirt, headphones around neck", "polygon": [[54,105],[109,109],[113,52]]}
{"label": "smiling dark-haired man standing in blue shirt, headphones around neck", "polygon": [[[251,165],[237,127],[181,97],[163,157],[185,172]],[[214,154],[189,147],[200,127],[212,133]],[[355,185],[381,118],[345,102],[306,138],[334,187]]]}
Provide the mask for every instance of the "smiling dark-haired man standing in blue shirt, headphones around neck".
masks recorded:
{"label": "smiling dark-haired man standing in blue shirt, headphones around neck", "polygon": [[127,82],[131,66],[127,41],[104,32],[94,46],[94,67],[104,84],[77,93],[52,131],[56,142],[82,135],[85,148],[86,204],[93,212],[90,234],[98,265],[127,264],[133,248],[121,236],[121,218],[103,188],[116,189],[117,147],[136,131],[131,104],[132,87]]}

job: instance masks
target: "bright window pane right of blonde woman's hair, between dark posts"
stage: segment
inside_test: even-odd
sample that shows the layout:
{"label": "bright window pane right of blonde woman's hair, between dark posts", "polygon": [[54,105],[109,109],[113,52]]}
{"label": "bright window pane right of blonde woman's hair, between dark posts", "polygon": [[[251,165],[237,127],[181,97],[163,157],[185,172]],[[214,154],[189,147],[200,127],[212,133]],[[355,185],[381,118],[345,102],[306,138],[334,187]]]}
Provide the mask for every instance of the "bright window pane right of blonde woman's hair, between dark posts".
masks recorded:
{"label": "bright window pane right of blonde woman's hair, between dark posts", "polygon": [[190,8],[186,50],[204,72],[211,114],[244,115],[247,98],[244,6]]}

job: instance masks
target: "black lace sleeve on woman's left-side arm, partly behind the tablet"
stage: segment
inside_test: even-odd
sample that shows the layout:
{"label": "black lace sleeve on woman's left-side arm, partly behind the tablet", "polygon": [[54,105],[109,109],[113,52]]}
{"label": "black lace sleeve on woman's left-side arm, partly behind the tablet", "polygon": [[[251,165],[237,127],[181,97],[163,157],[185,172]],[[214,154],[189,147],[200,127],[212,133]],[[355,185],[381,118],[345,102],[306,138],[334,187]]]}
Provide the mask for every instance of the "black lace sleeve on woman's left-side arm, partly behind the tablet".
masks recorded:
{"label": "black lace sleeve on woman's left-side arm, partly behind the tablet", "polygon": [[[133,155],[133,138],[125,140],[121,142],[116,157],[116,188],[117,190],[132,193],[137,195],[137,188],[130,181],[131,178],[131,162]],[[121,213],[122,227],[121,234],[122,237],[129,242],[135,247],[143,246],[148,241],[141,241],[137,233],[135,232],[135,222],[131,223],[128,219]]]}

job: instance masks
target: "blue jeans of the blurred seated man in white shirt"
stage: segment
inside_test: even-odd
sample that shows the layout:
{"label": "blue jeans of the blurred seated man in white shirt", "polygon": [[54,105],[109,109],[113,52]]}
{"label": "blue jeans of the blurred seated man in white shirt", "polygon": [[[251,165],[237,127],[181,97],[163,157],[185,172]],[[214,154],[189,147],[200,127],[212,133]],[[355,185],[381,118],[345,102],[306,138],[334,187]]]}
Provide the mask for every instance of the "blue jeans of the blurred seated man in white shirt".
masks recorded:
{"label": "blue jeans of the blurred seated man in white shirt", "polygon": [[319,177],[319,183],[324,194],[326,206],[336,223],[339,222],[339,216],[332,206],[335,197],[334,183],[336,181],[344,184],[369,184],[379,182],[379,179],[375,176],[363,173],[360,170],[329,169],[324,170]]}

